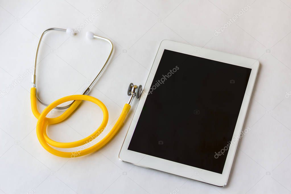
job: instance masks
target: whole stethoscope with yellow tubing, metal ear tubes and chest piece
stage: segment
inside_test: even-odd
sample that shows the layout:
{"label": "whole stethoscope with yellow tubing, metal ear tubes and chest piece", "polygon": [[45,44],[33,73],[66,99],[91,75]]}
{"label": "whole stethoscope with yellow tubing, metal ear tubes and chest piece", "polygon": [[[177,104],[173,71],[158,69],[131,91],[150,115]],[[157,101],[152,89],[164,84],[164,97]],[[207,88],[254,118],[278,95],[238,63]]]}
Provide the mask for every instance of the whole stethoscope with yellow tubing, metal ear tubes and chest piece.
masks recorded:
{"label": "whole stethoscope with yellow tubing, metal ear tubes and chest piece", "polygon": [[[114,137],[114,135],[118,132],[118,130],[122,126],[122,124],[126,118],[126,115],[130,110],[130,107],[131,107],[130,105],[131,105],[134,97],[139,99],[141,97],[143,89],[142,89],[141,85],[137,86],[137,85],[134,85],[133,83],[129,84],[128,89],[127,89],[127,95],[129,96],[129,100],[124,105],[122,113],[120,114],[117,122],[115,123],[113,128],[109,131],[109,133],[102,140],[100,140],[98,143],[89,147],[88,143],[90,143],[92,140],[97,138],[100,134],[102,134],[104,129],[106,129],[109,115],[108,115],[108,111],[107,111],[106,106],[97,98],[94,98],[92,96],[88,96],[88,93],[90,92],[90,89],[93,86],[93,84],[97,81],[98,77],[101,75],[101,73],[104,71],[105,67],[107,66],[108,61],[109,61],[111,54],[113,52],[113,44],[107,38],[97,36],[97,35],[93,34],[92,32],[87,32],[86,33],[87,38],[90,38],[90,39],[97,38],[97,39],[101,39],[101,40],[105,40],[105,41],[109,42],[111,48],[110,48],[110,52],[107,56],[107,59],[106,59],[104,65],[102,66],[102,68],[100,69],[98,74],[95,76],[95,78],[91,81],[89,86],[84,90],[84,92],[81,95],[66,96],[66,97],[63,97],[63,98],[60,98],[60,99],[54,101],[52,104],[46,104],[37,95],[36,65],[37,65],[40,42],[43,38],[43,35],[45,33],[47,33],[48,31],[52,31],[52,30],[65,31],[71,35],[74,35],[74,31],[72,29],[50,28],[50,29],[45,30],[41,34],[41,36],[38,40],[38,45],[36,47],[36,54],[35,54],[34,65],[33,65],[34,72],[32,75],[32,88],[31,88],[31,92],[30,92],[31,93],[31,95],[30,95],[31,109],[32,109],[33,115],[38,119],[38,122],[36,125],[36,134],[37,134],[38,140],[39,140],[40,144],[42,145],[42,147],[44,147],[51,154],[54,154],[56,156],[61,156],[61,157],[67,157],[67,158],[84,156],[86,154],[90,154],[92,152],[97,151],[98,149],[103,147],[105,144],[107,144]],[[44,111],[42,111],[42,113],[38,112],[37,100],[41,104],[47,106],[44,109]],[[79,104],[82,102],[82,100],[87,100],[87,101],[93,102],[101,108],[101,110],[103,112],[103,120],[102,120],[102,123],[100,124],[100,126],[98,127],[98,129],[96,131],[94,131],[90,136],[83,138],[81,140],[78,140],[78,141],[74,141],[74,142],[65,143],[65,142],[57,142],[57,141],[50,139],[47,136],[47,125],[56,124],[56,123],[62,122],[66,118],[68,118],[68,116],[70,116],[70,114],[79,106]],[[59,106],[60,104],[65,103],[65,102],[69,102],[69,101],[73,101],[73,102],[67,106]],[[58,116],[56,118],[47,118],[46,115],[52,109],[58,109],[58,110],[67,109],[67,110],[63,114],[61,114],[60,116]],[[51,146],[57,147],[57,148],[72,148],[72,147],[80,147],[80,148],[74,152],[63,152],[63,151],[59,151],[57,149],[54,149]]]}

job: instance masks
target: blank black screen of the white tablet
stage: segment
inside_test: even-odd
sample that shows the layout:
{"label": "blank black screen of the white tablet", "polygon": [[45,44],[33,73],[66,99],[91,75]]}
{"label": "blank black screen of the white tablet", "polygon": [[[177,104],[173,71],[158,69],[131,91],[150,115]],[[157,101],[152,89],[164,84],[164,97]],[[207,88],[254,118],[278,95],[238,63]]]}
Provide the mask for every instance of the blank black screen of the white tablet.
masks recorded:
{"label": "blank black screen of the white tablet", "polygon": [[164,50],[128,149],[222,173],[250,74]]}

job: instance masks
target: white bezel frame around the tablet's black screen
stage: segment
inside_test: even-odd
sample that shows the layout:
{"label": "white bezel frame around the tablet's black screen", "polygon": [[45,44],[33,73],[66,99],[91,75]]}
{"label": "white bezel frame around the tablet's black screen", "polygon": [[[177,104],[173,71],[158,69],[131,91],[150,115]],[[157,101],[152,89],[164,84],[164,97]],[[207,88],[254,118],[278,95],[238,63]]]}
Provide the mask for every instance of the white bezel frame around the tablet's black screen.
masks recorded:
{"label": "white bezel frame around the tablet's black screen", "polygon": [[[146,94],[146,91],[148,91],[151,87],[152,81],[154,79],[155,73],[157,71],[159,62],[161,60],[162,54],[164,49],[171,50],[171,51],[176,51],[184,54],[189,54],[193,56],[198,56],[202,58],[207,58],[215,61],[220,61],[223,63],[228,63],[232,65],[237,65],[237,66],[242,66],[242,67],[248,67],[251,68],[251,74],[249,77],[249,82],[246,87],[246,92],[244,95],[244,99],[242,101],[242,106],[239,111],[239,116],[237,119],[237,123],[235,126],[232,142],[233,140],[237,137],[239,137],[243,123],[244,123],[244,118],[246,115],[246,111],[249,105],[249,100],[250,96],[253,90],[253,86],[255,83],[255,78],[258,72],[259,68],[259,62],[255,59],[251,58],[246,58],[242,56],[237,56],[233,54],[227,54],[219,51],[214,51],[210,49],[204,49],[201,47],[195,47],[192,45],[187,45],[179,42],[174,42],[170,40],[163,40],[160,44],[159,50],[157,52],[156,58],[154,60],[154,63],[152,65],[152,69],[150,71],[150,74],[148,76],[148,79],[145,83],[143,93]],[[121,161],[126,161],[129,163],[133,163],[135,165],[140,165],[146,168],[152,168],[164,172],[168,172],[174,175],[182,176],[182,177],[187,177],[193,180],[198,180],[202,181],[208,184],[216,185],[216,186],[225,186],[230,174],[230,169],[233,163],[233,159],[235,156],[235,151],[237,148],[237,143],[234,143],[233,146],[229,147],[228,149],[228,154],[226,157],[226,162],[223,168],[222,174],[216,173],[216,172],[211,172],[208,170],[203,170],[200,168],[192,167],[189,165],[157,158],[155,156],[150,156],[147,154],[142,154],[139,152],[134,152],[131,150],[128,150],[128,145],[130,143],[130,140],[132,138],[134,129],[136,127],[137,121],[139,119],[139,116],[141,114],[143,105],[145,103],[147,95],[142,95],[140,98],[138,105],[136,107],[132,122],[129,126],[129,129],[127,131],[125,140],[123,142],[123,145],[121,147],[120,153],[119,153],[119,159]],[[186,103],[186,102],[185,102]],[[219,148],[221,149],[221,148]],[[219,150],[218,150],[219,151]],[[196,176],[193,176],[193,172],[197,172]]]}

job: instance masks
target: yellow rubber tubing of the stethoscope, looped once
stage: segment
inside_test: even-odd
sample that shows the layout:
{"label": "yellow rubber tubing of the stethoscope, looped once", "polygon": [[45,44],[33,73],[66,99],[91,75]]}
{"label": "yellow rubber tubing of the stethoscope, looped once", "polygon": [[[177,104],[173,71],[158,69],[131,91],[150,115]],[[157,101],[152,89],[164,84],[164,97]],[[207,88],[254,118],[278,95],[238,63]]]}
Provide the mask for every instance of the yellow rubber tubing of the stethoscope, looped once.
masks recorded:
{"label": "yellow rubber tubing of the stethoscope, looped once", "polygon": [[[68,102],[71,100],[75,100],[75,102],[61,116],[56,117],[56,118],[46,118],[46,115],[55,106],[58,106],[59,104],[62,104],[64,102]],[[56,141],[50,139],[47,136],[47,132],[46,132],[47,125],[48,124],[56,124],[58,122],[65,120],[77,108],[77,106],[81,103],[82,100],[87,100],[87,101],[93,102],[93,103],[97,104],[98,106],[100,106],[100,108],[103,112],[103,121],[102,121],[101,125],[98,127],[98,129],[96,131],[94,131],[94,133],[91,134],[90,136],[88,136],[84,139],[78,140],[78,141],[74,141],[74,142],[68,142],[68,143],[56,142]],[[74,157],[84,156],[86,154],[90,154],[90,153],[95,152],[98,149],[102,148],[118,132],[118,130],[120,129],[120,127],[122,126],[122,124],[126,118],[127,113],[130,110],[130,107],[131,106],[129,104],[124,105],[123,111],[122,111],[121,115],[119,116],[117,122],[113,126],[113,128],[109,131],[109,133],[102,140],[100,140],[95,145],[93,145],[89,148],[86,148],[86,149],[80,148],[78,151],[75,151],[75,152],[62,152],[62,151],[59,151],[57,149],[54,149],[51,146],[58,147],[58,148],[78,147],[78,146],[85,145],[86,143],[89,143],[90,141],[97,138],[102,133],[102,131],[105,129],[105,127],[107,125],[107,122],[108,122],[107,108],[100,100],[98,100],[97,98],[94,98],[92,96],[70,95],[70,96],[66,96],[66,97],[63,97],[63,98],[60,98],[60,99],[54,101],[52,104],[47,106],[44,109],[44,111],[42,111],[42,113],[40,114],[38,112],[37,106],[36,106],[36,88],[31,88],[31,109],[32,109],[33,114],[38,119],[37,126],[36,126],[36,134],[37,134],[38,140],[39,140],[40,144],[42,145],[42,147],[44,147],[48,152],[50,152],[51,154],[54,154],[56,156],[60,156],[60,157],[74,158]]]}

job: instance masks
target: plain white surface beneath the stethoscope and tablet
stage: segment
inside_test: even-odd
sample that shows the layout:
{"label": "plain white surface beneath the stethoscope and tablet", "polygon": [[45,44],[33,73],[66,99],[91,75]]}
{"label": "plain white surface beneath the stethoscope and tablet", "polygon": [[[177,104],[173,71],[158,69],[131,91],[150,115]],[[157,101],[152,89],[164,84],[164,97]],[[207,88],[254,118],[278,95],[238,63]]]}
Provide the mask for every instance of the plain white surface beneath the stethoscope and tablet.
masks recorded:
{"label": "plain white surface beneath the stethoscope and tablet", "polygon": [[[43,30],[76,29],[104,4],[107,8],[74,37],[60,32],[44,38],[37,83],[42,99],[52,102],[82,92],[102,66],[109,46],[88,40],[86,31],[111,38],[116,49],[90,93],[106,104],[109,123],[128,100],[128,83],[145,83],[164,39],[258,59],[260,70],[243,127],[251,131],[238,145],[228,186],[219,188],[120,162],[118,152],[129,122],[100,152],[76,159],[52,156],[36,138],[29,74],[0,98],[0,193],[152,194],[175,189],[178,193],[290,193],[291,96],[285,97],[291,91],[290,0],[1,0],[0,91],[32,67]],[[215,29],[247,4],[251,8],[246,13],[214,36]],[[39,105],[40,111],[43,108]],[[100,114],[84,102],[68,120],[50,126],[49,136],[80,139],[100,124]]]}

